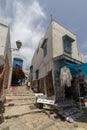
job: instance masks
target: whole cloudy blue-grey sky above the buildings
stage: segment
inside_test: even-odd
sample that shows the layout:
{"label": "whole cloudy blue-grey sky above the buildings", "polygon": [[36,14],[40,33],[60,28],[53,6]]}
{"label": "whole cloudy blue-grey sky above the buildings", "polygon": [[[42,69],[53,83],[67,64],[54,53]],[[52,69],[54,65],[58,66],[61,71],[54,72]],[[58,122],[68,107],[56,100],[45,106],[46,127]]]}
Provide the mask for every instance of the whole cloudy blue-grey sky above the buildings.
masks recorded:
{"label": "whole cloudy blue-grey sky above the buildings", "polygon": [[77,35],[78,49],[87,62],[87,0],[0,0],[0,19],[9,22],[11,45],[22,41],[18,53],[26,58],[27,66],[50,23],[50,14]]}

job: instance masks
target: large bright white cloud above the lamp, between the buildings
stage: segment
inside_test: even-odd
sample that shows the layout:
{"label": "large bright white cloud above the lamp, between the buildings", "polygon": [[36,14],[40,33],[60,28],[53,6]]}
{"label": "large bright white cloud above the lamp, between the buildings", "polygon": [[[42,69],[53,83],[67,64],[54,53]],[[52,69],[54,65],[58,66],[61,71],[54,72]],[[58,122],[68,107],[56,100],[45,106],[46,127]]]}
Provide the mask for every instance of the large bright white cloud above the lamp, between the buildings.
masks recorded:
{"label": "large bright white cloud above the lamp, between the buildings", "polygon": [[23,46],[19,53],[26,57],[27,64],[30,64],[34,50],[43,37],[42,23],[46,18],[45,13],[37,0],[28,6],[22,1],[7,0],[5,12],[9,12],[9,8],[11,8],[12,17],[8,14],[4,19],[11,23],[12,47],[16,47],[15,42],[17,40],[22,41]]}

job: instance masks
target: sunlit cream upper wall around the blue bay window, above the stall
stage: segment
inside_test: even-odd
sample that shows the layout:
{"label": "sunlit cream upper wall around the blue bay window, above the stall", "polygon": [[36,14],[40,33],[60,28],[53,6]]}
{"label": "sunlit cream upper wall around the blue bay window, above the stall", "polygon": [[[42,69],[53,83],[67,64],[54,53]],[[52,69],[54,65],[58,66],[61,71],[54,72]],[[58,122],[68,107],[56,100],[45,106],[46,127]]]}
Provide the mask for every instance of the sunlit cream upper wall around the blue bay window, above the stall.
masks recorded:
{"label": "sunlit cream upper wall around the blue bay window, above the stall", "polygon": [[[72,43],[72,54],[68,55],[63,50],[63,40],[62,37],[64,35],[68,35],[75,41]],[[79,61],[84,61],[83,54],[78,52],[77,49],[77,42],[76,42],[76,35],[67,30],[66,28],[62,27],[61,25],[57,24],[55,21],[52,22],[52,38],[53,38],[53,57],[60,56],[62,54],[66,54],[74,59]]]}

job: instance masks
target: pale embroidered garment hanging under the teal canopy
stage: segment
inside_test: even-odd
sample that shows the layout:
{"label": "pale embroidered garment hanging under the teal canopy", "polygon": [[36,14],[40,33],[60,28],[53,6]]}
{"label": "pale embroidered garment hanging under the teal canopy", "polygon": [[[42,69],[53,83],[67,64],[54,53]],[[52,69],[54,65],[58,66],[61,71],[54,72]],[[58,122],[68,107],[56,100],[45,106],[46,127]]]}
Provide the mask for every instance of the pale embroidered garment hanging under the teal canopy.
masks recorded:
{"label": "pale embroidered garment hanging under the teal canopy", "polygon": [[61,68],[61,71],[60,71],[61,86],[66,85],[67,87],[70,87],[71,86],[71,80],[72,80],[71,72],[70,72],[69,68],[64,66],[63,68]]}

